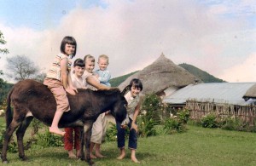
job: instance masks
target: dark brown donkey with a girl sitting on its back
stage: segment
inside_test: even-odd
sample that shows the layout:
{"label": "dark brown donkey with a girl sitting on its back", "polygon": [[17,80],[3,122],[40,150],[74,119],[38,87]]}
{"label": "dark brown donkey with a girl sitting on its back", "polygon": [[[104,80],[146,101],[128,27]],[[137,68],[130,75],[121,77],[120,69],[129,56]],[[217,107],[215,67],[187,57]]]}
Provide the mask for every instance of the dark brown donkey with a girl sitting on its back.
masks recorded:
{"label": "dark brown donkey with a girl sitting on its back", "polygon": [[[90,89],[78,89],[76,95],[67,94],[71,111],[65,112],[59,123],[60,128],[80,126],[82,129],[81,159],[90,165],[89,147],[92,124],[102,113],[111,111],[116,121],[121,123],[126,116],[127,102],[119,89],[104,91],[91,91]],[[14,107],[13,115],[10,104]],[[6,153],[9,139],[15,129],[17,135],[19,157],[26,160],[23,146],[23,137],[31,123],[32,118],[36,117],[39,121],[50,125],[55,115],[55,97],[49,89],[42,83],[33,80],[24,80],[16,83],[9,92],[6,110],[6,134],[4,136],[2,160],[8,163]],[[85,155],[84,155],[85,145]]]}

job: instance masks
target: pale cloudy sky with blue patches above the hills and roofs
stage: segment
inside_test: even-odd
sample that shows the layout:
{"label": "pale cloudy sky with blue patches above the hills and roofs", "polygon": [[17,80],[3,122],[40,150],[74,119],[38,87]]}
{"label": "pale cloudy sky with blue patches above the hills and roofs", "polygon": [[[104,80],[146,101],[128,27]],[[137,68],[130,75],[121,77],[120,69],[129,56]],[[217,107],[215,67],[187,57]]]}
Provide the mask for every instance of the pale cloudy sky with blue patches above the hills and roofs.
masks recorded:
{"label": "pale cloudy sky with blue patches above the hills and roofs", "polygon": [[[76,58],[107,54],[112,77],[143,70],[161,53],[228,82],[256,82],[254,0],[0,0],[5,57],[26,55],[45,72],[61,40]],[[0,45],[3,49],[3,45]],[[96,66],[97,68],[97,66]],[[3,78],[7,78],[4,77]]]}

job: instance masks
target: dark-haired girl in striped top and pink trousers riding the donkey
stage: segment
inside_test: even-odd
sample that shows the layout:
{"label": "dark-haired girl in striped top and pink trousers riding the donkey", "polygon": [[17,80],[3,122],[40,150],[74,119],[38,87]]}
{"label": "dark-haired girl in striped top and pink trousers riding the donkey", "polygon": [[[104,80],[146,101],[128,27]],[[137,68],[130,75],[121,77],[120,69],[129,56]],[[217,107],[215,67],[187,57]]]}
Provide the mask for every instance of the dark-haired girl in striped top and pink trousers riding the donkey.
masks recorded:
{"label": "dark-haired girl in striped top and pink trousers riding the donkey", "polygon": [[61,54],[55,56],[44,79],[44,84],[54,94],[57,103],[55,117],[49,127],[49,132],[56,135],[65,135],[65,132],[58,128],[58,123],[63,112],[70,110],[67,93],[74,95],[77,92],[77,89],[68,84],[68,72],[70,72],[71,59],[75,56],[76,49],[76,40],[73,37],[64,37],[61,41]]}

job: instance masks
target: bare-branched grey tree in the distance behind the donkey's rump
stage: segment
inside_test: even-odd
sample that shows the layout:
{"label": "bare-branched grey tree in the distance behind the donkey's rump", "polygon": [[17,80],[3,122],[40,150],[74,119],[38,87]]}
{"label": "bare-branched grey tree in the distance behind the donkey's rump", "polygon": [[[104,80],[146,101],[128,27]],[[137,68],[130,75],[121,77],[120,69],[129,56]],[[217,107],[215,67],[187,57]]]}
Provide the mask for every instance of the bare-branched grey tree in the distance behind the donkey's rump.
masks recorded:
{"label": "bare-branched grey tree in the distance behind the donkey's rump", "polygon": [[6,68],[9,70],[6,75],[15,81],[36,79],[40,75],[39,67],[25,55],[16,55],[6,60],[8,64]]}

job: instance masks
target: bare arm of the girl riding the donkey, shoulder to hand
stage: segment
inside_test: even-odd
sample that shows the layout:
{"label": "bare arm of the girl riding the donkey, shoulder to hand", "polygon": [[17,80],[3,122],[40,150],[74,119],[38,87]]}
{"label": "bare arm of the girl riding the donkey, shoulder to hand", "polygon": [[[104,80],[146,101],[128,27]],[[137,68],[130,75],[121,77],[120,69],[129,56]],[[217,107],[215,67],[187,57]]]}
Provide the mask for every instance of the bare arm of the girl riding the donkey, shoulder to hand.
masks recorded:
{"label": "bare arm of the girl riding the donkey, shoulder to hand", "polygon": [[61,78],[62,78],[62,85],[64,89],[69,93],[69,94],[76,94],[73,89],[70,89],[68,87],[68,76],[67,76],[67,58],[63,58],[61,60]]}

